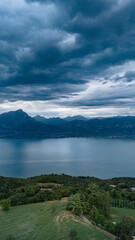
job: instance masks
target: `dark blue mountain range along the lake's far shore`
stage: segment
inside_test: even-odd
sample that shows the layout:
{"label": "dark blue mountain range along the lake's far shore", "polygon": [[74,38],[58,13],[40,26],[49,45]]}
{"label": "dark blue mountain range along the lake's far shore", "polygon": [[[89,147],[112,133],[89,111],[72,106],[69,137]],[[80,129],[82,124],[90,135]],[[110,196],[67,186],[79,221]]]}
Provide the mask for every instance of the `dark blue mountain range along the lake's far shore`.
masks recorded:
{"label": "dark blue mountain range along the lake's far shore", "polygon": [[32,118],[21,109],[0,114],[0,138],[60,137],[135,138],[135,117]]}

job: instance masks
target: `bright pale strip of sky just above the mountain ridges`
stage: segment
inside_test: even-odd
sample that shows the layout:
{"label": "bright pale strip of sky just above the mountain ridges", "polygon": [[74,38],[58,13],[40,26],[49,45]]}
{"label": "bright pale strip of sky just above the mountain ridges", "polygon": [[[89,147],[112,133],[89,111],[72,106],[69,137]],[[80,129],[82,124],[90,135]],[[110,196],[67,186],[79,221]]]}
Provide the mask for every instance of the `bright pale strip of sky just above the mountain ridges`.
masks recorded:
{"label": "bright pale strip of sky just above the mountain ridges", "polygon": [[[31,107],[31,108],[30,108]],[[59,112],[56,111],[54,114],[54,110],[52,109],[50,111],[50,108],[48,107],[46,111],[44,109],[39,109],[34,108],[34,105],[31,106],[8,106],[6,107],[1,107],[0,104],[0,114],[10,112],[10,111],[17,111],[17,110],[23,110],[26,112],[29,116],[35,117],[37,115],[45,118],[65,118],[65,117],[74,117],[74,116],[82,116],[86,118],[109,118],[109,117],[126,117],[126,116],[135,116],[135,111],[132,112],[132,114],[129,114],[128,112],[123,111],[123,114],[119,113],[119,108],[93,108],[93,109],[78,109],[78,108],[59,108]],[[48,111],[47,111],[48,110]],[[112,113],[114,111],[114,113]],[[69,113],[70,112],[70,113]],[[110,114],[109,114],[110,112]]]}

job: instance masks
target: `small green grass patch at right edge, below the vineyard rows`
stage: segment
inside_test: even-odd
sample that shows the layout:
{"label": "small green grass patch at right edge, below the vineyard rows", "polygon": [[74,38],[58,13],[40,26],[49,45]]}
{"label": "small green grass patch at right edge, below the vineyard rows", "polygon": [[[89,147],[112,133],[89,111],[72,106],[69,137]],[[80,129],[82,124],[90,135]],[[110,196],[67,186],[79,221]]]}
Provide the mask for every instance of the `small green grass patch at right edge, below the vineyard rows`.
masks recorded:
{"label": "small green grass patch at right edge, below the vineyard rows", "polygon": [[115,222],[120,222],[124,216],[135,218],[135,209],[111,208],[111,215]]}

